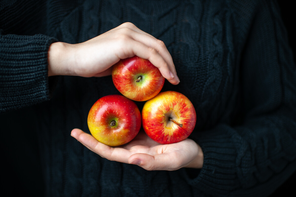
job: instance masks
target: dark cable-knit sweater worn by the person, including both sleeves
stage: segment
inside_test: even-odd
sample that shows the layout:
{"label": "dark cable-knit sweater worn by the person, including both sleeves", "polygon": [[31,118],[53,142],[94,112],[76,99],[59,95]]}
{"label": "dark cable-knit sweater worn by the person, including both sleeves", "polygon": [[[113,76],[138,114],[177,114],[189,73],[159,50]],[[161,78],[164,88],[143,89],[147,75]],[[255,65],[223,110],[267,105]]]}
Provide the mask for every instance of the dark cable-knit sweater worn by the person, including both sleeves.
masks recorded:
{"label": "dark cable-knit sweater worn by the person, including both sleeves", "polygon": [[[201,170],[146,171],[70,136],[89,131],[97,99],[120,93],[111,76],[48,77],[49,45],[123,22],[163,40],[173,57],[181,83],[162,91],[196,109],[190,138],[202,147]],[[296,169],[296,67],[274,1],[3,0],[0,29],[4,152],[30,191],[39,183],[45,196],[268,196]]]}

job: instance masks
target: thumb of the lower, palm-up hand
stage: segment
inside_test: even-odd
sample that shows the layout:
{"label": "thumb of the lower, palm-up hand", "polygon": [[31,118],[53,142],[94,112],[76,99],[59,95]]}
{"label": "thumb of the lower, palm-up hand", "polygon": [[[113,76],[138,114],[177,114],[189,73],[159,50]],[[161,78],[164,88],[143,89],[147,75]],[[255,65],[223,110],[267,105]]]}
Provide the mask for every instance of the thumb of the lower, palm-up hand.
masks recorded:
{"label": "thumb of the lower, palm-up hand", "polygon": [[129,164],[139,165],[145,170],[178,170],[181,167],[181,163],[178,159],[173,159],[171,154],[162,153],[154,156],[144,153],[136,153],[128,158]]}

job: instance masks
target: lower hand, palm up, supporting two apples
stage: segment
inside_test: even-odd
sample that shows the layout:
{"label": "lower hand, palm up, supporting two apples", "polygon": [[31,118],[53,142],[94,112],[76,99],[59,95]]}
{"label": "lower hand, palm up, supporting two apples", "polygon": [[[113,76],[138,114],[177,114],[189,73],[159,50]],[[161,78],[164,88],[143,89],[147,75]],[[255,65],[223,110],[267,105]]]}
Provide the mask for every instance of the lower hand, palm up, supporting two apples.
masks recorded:
{"label": "lower hand, palm up, supporting two apples", "polygon": [[72,130],[71,136],[103,158],[139,165],[146,170],[201,168],[203,165],[202,149],[191,139],[174,144],[158,144],[140,131],[128,144],[110,147],[77,128]]}

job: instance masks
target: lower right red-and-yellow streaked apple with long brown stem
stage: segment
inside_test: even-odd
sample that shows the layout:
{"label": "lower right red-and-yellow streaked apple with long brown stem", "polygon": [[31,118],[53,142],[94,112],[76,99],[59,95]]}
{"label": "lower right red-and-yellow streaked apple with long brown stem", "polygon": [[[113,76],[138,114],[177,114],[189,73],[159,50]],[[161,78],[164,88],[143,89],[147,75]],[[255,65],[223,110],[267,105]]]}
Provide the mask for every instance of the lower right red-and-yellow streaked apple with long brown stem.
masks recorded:
{"label": "lower right red-and-yellow streaked apple with long brown stem", "polygon": [[[169,117],[182,124],[182,127],[170,121]],[[192,133],[195,124],[194,106],[179,92],[160,92],[143,106],[144,131],[160,144],[171,144],[186,139]]]}

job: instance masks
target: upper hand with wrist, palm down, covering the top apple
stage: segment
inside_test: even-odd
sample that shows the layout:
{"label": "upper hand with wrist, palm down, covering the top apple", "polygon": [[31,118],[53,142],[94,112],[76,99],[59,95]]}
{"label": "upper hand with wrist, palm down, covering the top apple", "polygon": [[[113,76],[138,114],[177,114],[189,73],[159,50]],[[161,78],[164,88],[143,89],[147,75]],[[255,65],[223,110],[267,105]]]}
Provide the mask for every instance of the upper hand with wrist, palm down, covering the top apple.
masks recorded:
{"label": "upper hand with wrist, palm down, covering the top apple", "polygon": [[135,55],[148,59],[170,83],[180,82],[165,44],[129,22],[84,43],[52,43],[48,75],[107,76],[112,65]]}

